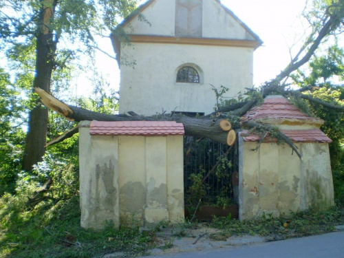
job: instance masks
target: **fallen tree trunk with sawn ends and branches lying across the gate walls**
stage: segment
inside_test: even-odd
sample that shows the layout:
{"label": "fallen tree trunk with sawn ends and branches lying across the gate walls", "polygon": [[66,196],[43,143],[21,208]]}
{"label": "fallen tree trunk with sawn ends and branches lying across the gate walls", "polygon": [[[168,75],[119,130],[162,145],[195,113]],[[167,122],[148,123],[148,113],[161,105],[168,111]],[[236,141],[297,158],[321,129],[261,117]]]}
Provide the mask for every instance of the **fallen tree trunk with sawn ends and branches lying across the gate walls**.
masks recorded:
{"label": "fallen tree trunk with sawn ends and branches lying across the gate walls", "polygon": [[[270,88],[271,89],[271,88]],[[241,125],[236,125],[233,127],[232,123],[222,116],[221,112],[217,113],[216,116],[204,116],[201,118],[191,118],[189,116],[184,116],[182,114],[160,114],[155,116],[139,116],[133,111],[129,111],[128,114],[117,114],[117,115],[109,115],[109,114],[102,114],[94,111],[89,111],[87,109],[83,109],[80,107],[74,107],[72,105],[67,105],[61,100],[58,100],[51,94],[48,94],[43,89],[35,88],[36,94],[39,94],[42,98],[42,103],[44,103],[47,107],[50,107],[54,111],[58,112],[65,116],[68,120],[80,122],[82,120],[100,120],[100,121],[138,121],[138,120],[145,120],[145,121],[175,121],[180,122],[184,125],[184,131],[186,136],[197,136],[197,137],[205,137],[211,140],[215,140],[216,142],[221,142],[223,144],[228,144],[232,146],[235,144],[236,140],[236,133],[235,130],[237,128],[246,127],[248,129],[262,129],[266,132],[274,131],[275,129],[272,128],[270,125],[261,125],[257,124],[253,121],[246,121],[242,122]],[[284,94],[292,94],[290,91],[283,92]],[[294,95],[298,96],[299,98],[305,98],[307,100],[319,103],[321,105],[341,109],[343,110],[344,107],[332,105],[330,103],[325,103],[323,100],[319,100],[313,98],[312,96],[308,96],[305,94],[301,94],[301,92],[293,92]],[[283,95],[284,95],[283,94]],[[239,107],[237,110],[231,111],[231,116],[243,116],[246,114],[250,108],[257,104],[257,99],[252,98],[251,100],[241,103],[240,105],[236,104],[236,107]],[[233,127],[233,129],[232,129]],[[56,142],[61,142],[65,138],[68,138],[69,135],[73,135],[77,132],[77,129],[74,128],[67,133],[64,133],[59,138],[56,138],[52,141],[51,144]],[[296,145],[281,131],[277,131],[278,138],[286,142],[292,150],[297,153],[300,159],[302,159],[301,153],[297,150]],[[264,137],[265,138],[265,137]],[[260,145],[260,144],[259,144]],[[257,147],[259,149],[259,147]],[[256,149],[256,150],[257,150]]]}

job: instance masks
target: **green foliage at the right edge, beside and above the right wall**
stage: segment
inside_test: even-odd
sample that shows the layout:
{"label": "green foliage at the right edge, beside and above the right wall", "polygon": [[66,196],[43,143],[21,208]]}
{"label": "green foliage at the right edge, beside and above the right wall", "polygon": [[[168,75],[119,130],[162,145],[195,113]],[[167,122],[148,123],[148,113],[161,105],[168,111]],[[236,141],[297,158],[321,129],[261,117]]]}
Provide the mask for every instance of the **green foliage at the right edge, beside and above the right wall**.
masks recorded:
{"label": "green foliage at the right edge, beside and above the right wall", "polygon": [[[327,47],[325,55],[314,56],[308,64],[308,73],[299,70],[292,76],[299,87],[318,85],[310,94],[335,105],[344,104],[344,49],[334,45]],[[336,204],[344,205],[344,114],[336,109],[316,105],[308,100],[291,96],[292,103],[310,116],[323,119],[321,130],[331,138],[330,156],[334,179]]]}

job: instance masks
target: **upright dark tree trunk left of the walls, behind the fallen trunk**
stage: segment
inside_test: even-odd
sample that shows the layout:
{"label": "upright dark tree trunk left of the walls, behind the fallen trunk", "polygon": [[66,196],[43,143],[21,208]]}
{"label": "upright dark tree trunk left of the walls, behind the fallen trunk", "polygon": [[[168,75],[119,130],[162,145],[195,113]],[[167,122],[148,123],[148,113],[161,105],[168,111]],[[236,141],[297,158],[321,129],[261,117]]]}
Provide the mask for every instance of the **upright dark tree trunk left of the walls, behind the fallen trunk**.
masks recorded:
{"label": "upright dark tree trunk left of the walls, behind the fallen trunk", "polygon": [[[53,18],[52,0],[45,0],[41,8],[40,21],[36,38],[36,74],[34,76],[34,87],[39,87],[50,92],[50,81],[54,69],[54,54],[56,42],[50,32],[50,22]],[[22,169],[30,171],[32,166],[42,160],[45,153],[47,138],[48,112],[37,100],[35,107],[29,113],[28,133],[25,140],[25,149],[22,161]]]}

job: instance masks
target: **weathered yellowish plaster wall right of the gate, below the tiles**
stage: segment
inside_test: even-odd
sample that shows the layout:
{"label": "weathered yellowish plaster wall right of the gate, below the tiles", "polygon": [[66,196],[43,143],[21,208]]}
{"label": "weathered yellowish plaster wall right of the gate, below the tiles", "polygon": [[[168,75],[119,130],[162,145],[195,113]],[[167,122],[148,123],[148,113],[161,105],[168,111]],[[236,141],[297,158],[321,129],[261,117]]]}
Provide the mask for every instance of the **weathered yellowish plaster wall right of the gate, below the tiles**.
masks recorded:
{"label": "weathered yellowish plaster wall right of the gate, below the tiles", "polygon": [[[239,139],[240,140],[240,139]],[[239,218],[264,213],[288,215],[305,208],[334,204],[328,144],[302,143],[303,160],[286,144],[240,141]]]}

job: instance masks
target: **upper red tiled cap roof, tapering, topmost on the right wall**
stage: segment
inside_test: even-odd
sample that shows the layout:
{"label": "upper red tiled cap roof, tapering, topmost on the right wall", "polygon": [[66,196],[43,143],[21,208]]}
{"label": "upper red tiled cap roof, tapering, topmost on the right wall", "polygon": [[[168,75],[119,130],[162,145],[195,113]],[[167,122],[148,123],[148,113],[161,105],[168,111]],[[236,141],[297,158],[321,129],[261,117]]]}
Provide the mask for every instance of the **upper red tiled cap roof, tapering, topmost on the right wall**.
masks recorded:
{"label": "upper red tiled cap roof, tapering, topmost on the right wall", "polygon": [[257,120],[263,118],[285,118],[298,120],[319,120],[302,113],[289,103],[283,96],[267,96],[259,107],[253,107],[243,116],[244,120]]}

